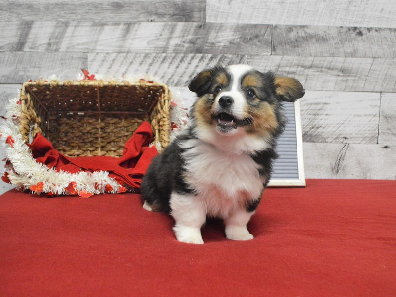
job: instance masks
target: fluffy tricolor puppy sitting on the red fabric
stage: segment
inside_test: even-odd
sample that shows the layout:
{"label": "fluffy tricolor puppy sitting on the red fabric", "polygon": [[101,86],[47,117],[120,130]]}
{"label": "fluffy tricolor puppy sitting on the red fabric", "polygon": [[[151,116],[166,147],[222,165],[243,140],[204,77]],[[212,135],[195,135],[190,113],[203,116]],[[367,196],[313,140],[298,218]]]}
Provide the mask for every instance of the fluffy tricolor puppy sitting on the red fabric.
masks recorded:
{"label": "fluffy tricolor puppy sitting on the red fabric", "polygon": [[247,222],[285,126],[281,103],[301,98],[304,89],[247,65],[204,70],[189,89],[198,95],[190,125],[153,160],[142,181],[143,207],[170,212],[181,242],[202,244],[207,216],[224,220],[227,238],[252,239]]}

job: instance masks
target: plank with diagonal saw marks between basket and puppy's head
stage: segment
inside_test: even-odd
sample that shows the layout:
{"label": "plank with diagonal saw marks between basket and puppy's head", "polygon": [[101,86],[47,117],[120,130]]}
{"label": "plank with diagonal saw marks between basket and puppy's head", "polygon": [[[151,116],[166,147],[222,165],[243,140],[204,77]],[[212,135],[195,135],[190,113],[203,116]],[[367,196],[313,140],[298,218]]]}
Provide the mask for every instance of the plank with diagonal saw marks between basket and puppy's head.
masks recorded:
{"label": "plank with diagonal saw marks between basket and puppy's head", "polygon": [[112,77],[148,75],[167,85],[187,86],[199,71],[214,65],[246,63],[243,55],[90,53],[92,73]]}

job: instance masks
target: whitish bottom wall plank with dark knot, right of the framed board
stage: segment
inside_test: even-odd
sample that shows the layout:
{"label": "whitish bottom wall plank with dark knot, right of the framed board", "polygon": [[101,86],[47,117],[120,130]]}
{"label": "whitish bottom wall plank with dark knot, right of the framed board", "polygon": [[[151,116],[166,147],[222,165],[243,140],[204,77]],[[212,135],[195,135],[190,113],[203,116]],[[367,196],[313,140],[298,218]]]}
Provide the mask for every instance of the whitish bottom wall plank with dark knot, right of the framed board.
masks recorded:
{"label": "whitish bottom wall plank with dark knot, right of the framed board", "polygon": [[396,179],[396,146],[304,143],[306,178]]}

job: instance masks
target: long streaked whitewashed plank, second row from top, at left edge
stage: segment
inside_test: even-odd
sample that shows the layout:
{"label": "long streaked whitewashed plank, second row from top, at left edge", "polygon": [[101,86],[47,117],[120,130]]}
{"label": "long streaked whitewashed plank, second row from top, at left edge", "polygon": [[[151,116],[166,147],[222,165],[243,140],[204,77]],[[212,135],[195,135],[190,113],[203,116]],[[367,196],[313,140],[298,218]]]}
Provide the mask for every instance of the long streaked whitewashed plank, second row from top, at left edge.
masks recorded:
{"label": "long streaked whitewashed plank, second row from top, at left edge", "polygon": [[269,25],[23,21],[0,27],[4,51],[271,54]]}

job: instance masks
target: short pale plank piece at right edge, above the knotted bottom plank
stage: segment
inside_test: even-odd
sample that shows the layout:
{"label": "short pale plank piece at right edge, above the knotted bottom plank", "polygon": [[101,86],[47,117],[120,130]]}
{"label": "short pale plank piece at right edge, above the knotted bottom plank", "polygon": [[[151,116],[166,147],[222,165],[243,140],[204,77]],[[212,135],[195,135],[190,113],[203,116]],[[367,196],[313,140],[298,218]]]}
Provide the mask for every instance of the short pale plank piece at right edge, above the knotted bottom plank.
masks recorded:
{"label": "short pale plank piece at right edge, above the knotted bottom plank", "polygon": [[381,93],[378,143],[396,145],[396,93]]}

